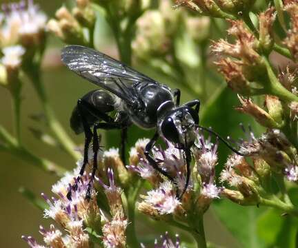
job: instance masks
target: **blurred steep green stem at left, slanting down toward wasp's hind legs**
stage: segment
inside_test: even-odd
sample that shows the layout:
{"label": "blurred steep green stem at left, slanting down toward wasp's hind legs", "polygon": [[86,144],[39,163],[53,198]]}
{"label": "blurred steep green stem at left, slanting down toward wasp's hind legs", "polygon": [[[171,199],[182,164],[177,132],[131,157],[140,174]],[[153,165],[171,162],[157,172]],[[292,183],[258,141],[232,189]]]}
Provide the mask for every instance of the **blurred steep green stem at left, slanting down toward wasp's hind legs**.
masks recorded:
{"label": "blurred steep green stem at left, slanting down toward wasp's hind legs", "polygon": [[31,66],[32,68],[28,68],[26,72],[34,85],[37,95],[39,96],[44,114],[48,121],[48,125],[50,126],[50,130],[52,130],[54,137],[61,144],[61,147],[63,147],[63,149],[68,152],[68,154],[70,154],[75,160],[78,160],[80,155],[74,151],[75,144],[72,142],[68,134],[66,134],[65,130],[63,130],[63,127],[54,115],[52,107],[50,107],[46,90],[43,83],[41,83],[39,67],[37,65]]}

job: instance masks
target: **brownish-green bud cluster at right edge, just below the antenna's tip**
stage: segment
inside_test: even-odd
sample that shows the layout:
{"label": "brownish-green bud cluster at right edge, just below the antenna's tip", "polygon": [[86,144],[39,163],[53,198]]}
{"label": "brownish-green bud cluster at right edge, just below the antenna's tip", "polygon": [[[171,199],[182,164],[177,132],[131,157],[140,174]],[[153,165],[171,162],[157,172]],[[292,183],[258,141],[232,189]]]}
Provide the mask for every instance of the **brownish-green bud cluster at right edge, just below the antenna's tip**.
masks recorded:
{"label": "brownish-green bud cluster at right edge, just below the antenna's tip", "polygon": [[239,152],[245,156],[231,155],[221,172],[221,182],[229,186],[221,195],[240,205],[259,205],[262,198],[272,194],[268,182],[275,174],[297,182],[297,150],[277,129],[268,130],[260,138],[248,130],[247,136],[247,141],[238,143]]}

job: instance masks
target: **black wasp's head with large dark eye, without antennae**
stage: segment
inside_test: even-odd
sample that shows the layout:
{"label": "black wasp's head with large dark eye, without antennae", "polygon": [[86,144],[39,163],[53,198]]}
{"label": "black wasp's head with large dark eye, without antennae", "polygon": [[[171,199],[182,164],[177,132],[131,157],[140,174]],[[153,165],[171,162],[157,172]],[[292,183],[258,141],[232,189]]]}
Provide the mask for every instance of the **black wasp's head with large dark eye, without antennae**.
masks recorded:
{"label": "black wasp's head with large dark eye, without antennae", "polygon": [[159,125],[164,138],[180,149],[189,149],[197,136],[195,130],[199,125],[199,115],[191,107],[183,106],[166,114]]}

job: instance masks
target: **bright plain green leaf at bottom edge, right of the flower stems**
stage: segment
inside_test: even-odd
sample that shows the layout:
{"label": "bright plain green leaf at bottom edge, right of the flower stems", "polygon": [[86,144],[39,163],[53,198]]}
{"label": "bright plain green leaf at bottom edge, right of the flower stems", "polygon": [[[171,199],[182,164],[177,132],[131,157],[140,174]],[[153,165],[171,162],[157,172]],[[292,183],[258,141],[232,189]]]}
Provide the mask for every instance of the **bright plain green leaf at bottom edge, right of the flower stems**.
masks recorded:
{"label": "bright plain green leaf at bottom edge, right of the flower stems", "polygon": [[212,209],[233,236],[239,240],[241,247],[264,247],[264,243],[257,235],[257,218],[262,213],[262,208],[243,207],[224,199],[217,201]]}

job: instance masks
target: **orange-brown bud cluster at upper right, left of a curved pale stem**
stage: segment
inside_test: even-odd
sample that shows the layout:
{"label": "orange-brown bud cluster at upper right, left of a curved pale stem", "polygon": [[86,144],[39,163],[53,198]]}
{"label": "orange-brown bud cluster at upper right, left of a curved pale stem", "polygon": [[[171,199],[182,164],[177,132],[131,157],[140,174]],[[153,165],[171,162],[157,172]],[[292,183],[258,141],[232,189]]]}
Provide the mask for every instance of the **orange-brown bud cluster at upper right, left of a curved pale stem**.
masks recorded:
{"label": "orange-brown bud cluster at upper right, left of a curved pale stem", "polygon": [[266,68],[259,54],[260,43],[246,28],[243,21],[230,21],[228,34],[236,38],[235,43],[220,39],[212,45],[212,51],[220,56],[228,56],[217,61],[219,71],[224,74],[228,86],[244,96],[258,91],[252,82],[264,83]]}

